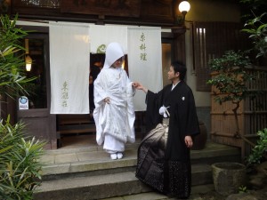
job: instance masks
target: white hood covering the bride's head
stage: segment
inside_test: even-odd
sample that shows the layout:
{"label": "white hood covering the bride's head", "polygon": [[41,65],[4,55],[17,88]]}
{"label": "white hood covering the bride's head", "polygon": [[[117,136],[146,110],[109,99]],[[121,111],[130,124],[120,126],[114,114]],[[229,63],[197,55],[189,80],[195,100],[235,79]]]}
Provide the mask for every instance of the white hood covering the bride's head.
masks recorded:
{"label": "white hood covering the bride's head", "polygon": [[119,58],[124,56],[124,52],[118,43],[110,43],[106,49],[106,59],[103,68],[110,66]]}

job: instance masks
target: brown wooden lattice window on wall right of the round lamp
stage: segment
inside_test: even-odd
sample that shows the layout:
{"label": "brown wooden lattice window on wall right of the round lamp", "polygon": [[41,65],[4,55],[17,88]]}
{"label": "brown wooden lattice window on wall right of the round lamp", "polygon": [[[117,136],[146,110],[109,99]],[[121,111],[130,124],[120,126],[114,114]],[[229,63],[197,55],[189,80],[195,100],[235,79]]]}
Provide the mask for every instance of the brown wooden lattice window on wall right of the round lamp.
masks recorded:
{"label": "brown wooden lattice window on wall right of the round lamp", "polygon": [[228,50],[247,50],[248,38],[240,30],[242,24],[235,22],[194,22],[194,68],[197,91],[209,92],[210,78],[208,60],[219,58]]}

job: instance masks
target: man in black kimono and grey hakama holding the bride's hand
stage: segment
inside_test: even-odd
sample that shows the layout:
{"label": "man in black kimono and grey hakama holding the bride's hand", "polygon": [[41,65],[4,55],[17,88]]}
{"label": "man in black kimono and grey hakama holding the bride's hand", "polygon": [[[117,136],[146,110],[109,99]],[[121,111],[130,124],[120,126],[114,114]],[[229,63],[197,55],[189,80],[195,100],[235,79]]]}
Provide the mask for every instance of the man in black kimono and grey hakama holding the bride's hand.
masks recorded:
{"label": "man in black kimono and grey hakama holding the bride's hand", "polygon": [[[151,92],[142,84],[134,83],[136,89],[147,93],[146,125],[149,132],[138,149],[136,177],[159,192],[178,198],[190,196],[190,148],[193,137],[199,133],[195,100],[190,87],[183,81],[185,75],[186,68],[173,62],[168,71],[172,84],[160,92]],[[161,132],[157,125],[164,117],[169,117],[166,146],[161,145],[162,136],[157,133]]]}

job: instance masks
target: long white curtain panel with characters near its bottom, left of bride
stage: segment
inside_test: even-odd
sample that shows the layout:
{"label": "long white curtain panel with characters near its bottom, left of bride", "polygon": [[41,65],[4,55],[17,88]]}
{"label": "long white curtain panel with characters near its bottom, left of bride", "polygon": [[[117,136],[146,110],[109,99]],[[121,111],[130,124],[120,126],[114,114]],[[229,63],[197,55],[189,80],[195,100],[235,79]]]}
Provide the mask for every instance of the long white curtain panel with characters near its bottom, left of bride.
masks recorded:
{"label": "long white curtain panel with characters near its bottom, left of bride", "polygon": [[89,26],[49,23],[51,114],[89,113]]}

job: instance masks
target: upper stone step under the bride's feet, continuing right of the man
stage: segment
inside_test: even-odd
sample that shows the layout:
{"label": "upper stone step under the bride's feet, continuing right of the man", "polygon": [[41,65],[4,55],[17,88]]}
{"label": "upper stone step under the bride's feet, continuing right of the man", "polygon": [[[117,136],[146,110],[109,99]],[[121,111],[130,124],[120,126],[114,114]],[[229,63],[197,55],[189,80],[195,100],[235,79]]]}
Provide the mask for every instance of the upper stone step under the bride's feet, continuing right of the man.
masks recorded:
{"label": "upper stone step under the bride's feet, continuing right of the man", "polygon": [[[135,167],[139,144],[127,145],[123,159],[111,160],[102,148],[69,148],[50,150],[42,157],[43,176],[60,175],[74,172],[95,172]],[[240,157],[239,148],[207,142],[202,150],[191,150],[192,164],[213,164],[215,162],[235,161]]]}

